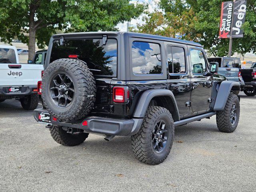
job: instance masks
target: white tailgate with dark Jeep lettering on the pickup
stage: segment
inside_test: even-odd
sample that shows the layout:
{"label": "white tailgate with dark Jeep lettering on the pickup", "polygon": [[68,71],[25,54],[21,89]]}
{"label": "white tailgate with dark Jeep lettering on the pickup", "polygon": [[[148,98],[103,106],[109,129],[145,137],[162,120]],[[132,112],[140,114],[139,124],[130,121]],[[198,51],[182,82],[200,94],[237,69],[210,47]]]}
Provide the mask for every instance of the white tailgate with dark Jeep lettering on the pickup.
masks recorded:
{"label": "white tailgate with dark Jeep lettering on the pickup", "polygon": [[42,70],[38,64],[0,64],[0,86],[37,85]]}

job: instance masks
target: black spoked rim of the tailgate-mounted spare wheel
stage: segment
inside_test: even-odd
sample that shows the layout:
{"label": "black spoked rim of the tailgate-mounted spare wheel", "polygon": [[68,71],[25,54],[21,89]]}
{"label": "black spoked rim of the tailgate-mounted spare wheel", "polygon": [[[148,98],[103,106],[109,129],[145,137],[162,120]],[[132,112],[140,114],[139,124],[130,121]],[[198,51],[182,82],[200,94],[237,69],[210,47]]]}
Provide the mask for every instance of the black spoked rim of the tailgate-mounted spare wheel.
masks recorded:
{"label": "black spoked rim of the tailgate-mounted spare wheel", "polygon": [[59,73],[50,82],[50,94],[54,104],[66,108],[74,99],[75,88],[72,79],[64,73]]}

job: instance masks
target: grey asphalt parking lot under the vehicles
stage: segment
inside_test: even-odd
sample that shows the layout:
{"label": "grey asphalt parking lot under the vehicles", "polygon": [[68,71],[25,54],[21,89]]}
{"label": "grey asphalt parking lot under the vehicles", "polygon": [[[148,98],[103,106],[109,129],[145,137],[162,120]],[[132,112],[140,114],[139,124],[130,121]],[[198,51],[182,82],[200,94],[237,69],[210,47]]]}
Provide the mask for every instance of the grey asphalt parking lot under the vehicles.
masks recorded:
{"label": "grey asphalt parking lot under the vehicles", "polygon": [[[256,191],[256,96],[241,96],[234,133],[215,116],[175,129],[168,158],[140,163],[130,138],[90,134],[75,147],[56,143],[33,111],[0,103],[0,191]],[[41,107],[41,106],[39,106]]]}

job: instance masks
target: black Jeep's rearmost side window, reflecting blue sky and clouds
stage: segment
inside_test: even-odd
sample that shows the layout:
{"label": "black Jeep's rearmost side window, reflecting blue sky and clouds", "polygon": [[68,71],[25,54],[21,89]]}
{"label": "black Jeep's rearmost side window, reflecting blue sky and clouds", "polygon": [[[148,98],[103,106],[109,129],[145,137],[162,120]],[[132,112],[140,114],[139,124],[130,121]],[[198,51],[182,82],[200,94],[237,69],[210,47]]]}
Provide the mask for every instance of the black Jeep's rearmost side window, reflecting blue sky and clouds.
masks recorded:
{"label": "black Jeep's rearmost side window, reflecting blue sky and clouds", "polygon": [[132,42],[132,71],[134,74],[161,74],[160,45],[148,42]]}

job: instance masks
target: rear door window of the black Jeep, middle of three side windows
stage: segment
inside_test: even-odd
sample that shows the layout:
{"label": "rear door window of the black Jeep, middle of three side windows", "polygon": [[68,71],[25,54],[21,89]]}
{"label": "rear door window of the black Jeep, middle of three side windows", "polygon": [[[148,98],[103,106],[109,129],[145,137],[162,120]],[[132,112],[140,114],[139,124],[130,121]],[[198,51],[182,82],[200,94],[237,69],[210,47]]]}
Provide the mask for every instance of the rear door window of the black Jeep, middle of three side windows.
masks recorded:
{"label": "rear door window of the black Jeep, middle of three side windows", "polygon": [[167,59],[169,73],[185,73],[185,50],[182,47],[168,46]]}

